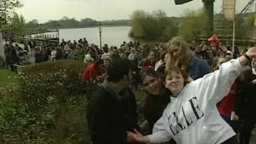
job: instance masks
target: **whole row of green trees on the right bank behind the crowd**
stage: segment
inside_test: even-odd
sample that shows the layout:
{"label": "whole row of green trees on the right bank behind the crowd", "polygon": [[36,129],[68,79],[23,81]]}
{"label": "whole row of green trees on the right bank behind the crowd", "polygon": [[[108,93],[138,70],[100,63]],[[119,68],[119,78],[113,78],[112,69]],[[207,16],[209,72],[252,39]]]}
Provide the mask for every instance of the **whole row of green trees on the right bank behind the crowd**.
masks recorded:
{"label": "whole row of green trees on the right bank behind the crowd", "polygon": [[[235,37],[246,39],[250,37],[248,32],[252,29],[251,21],[245,22],[243,17],[236,15]],[[254,18],[254,17],[253,17]],[[253,19],[254,21],[254,19]],[[247,23],[250,23],[248,25]],[[225,19],[223,14],[215,14],[213,21],[213,34],[223,39],[232,39],[233,22]],[[200,38],[208,38],[205,30],[208,26],[207,14],[203,8],[197,10],[185,10],[180,18],[167,17],[163,10],[146,12],[136,10],[131,15],[131,31],[129,36],[158,41],[168,41],[173,36],[185,37],[188,42],[198,41]]]}

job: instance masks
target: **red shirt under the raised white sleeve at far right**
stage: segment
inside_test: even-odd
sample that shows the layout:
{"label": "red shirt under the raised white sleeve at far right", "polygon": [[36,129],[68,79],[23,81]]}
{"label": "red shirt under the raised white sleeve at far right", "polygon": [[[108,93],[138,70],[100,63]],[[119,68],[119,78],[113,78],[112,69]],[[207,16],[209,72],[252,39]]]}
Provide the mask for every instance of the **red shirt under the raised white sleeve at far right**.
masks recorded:
{"label": "red shirt under the raised white sleeve at far right", "polygon": [[231,111],[235,111],[236,105],[237,82],[235,81],[229,90],[229,93],[220,101],[218,107],[221,115],[231,116]]}

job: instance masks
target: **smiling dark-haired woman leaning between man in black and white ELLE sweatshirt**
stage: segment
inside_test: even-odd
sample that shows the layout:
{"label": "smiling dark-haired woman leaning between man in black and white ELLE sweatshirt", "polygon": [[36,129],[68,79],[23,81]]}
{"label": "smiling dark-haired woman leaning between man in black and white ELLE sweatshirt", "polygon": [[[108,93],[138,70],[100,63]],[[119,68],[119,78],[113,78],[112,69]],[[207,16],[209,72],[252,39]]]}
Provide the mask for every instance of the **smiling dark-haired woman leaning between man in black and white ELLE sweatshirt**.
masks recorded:
{"label": "smiling dark-haired woman leaning between man in black and white ELLE sweatshirt", "polygon": [[[171,91],[166,89],[161,77],[154,68],[142,68],[139,72],[141,84],[146,93],[143,106],[143,115],[146,119],[140,127],[148,125],[148,134],[152,134],[153,126],[162,116],[167,103],[170,102]],[[175,143],[172,141],[172,143]]]}

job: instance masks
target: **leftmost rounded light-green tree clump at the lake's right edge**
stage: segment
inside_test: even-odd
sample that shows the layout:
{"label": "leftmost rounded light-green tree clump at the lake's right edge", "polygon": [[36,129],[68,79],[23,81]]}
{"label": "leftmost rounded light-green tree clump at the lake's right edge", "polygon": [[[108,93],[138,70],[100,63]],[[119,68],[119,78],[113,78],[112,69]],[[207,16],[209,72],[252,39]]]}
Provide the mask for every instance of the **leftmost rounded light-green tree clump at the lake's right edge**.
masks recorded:
{"label": "leftmost rounded light-green tree clump at the lake's right edge", "polygon": [[166,40],[178,34],[179,22],[166,16],[162,10],[146,12],[134,11],[131,15],[129,36],[154,40]]}

